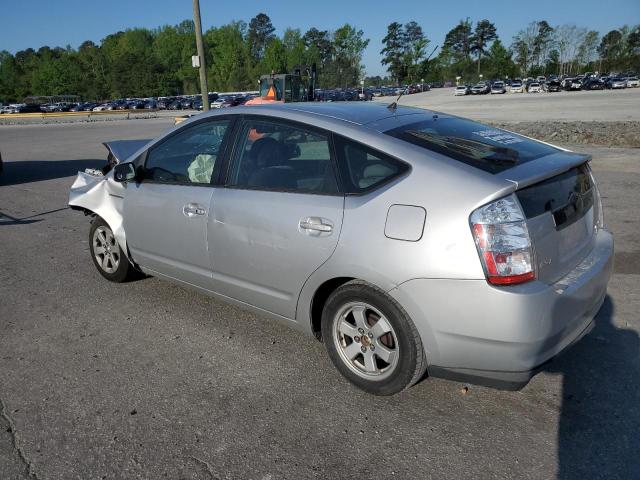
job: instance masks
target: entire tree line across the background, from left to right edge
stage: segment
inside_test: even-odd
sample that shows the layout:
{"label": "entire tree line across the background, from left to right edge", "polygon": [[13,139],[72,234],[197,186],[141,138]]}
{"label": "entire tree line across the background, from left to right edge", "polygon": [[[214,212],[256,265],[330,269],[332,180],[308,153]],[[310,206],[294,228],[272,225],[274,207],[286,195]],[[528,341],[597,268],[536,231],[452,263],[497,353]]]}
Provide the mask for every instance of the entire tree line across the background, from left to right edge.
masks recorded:
{"label": "entire tree line across the background, from left to right edge", "polygon": [[[276,35],[268,15],[249,23],[234,21],[204,33],[209,87],[217,91],[255,90],[261,74],[291,72],[317,65],[321,88],[359,84],[369,39],[345,23],[329,31],[287,28]],[[417,83],[480,78],[574,74],[579,71],[640,70],[640,26],[623,26],[602,37],[575,25],[531,22],[509,46],[495,24],[469,18],[446,35],[437,55],[417,22],[392,22],[380,52],[386,77],[366,77],[367,85]],[[0,51],[0,101],[20,101],[29,95],[77,94],[83,99],[146,97],[195,93],[198,72],[194,25],[149,30],[134,28],[86,41],[79,48],[28,48]]]}

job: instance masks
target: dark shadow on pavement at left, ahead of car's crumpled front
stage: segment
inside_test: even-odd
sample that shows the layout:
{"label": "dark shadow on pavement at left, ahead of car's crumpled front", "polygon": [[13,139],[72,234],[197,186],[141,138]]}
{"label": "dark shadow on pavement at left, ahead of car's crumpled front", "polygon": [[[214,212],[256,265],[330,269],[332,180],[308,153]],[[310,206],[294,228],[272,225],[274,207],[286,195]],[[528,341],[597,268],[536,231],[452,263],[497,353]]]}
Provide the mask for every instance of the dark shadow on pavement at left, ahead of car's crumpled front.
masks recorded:
{"label": "dark shadow on pavement at left, ahead of car's crumpled front", "polygon": [[104,159],[4,161],[0,186],[72,177],[85,168],[102,168]]}

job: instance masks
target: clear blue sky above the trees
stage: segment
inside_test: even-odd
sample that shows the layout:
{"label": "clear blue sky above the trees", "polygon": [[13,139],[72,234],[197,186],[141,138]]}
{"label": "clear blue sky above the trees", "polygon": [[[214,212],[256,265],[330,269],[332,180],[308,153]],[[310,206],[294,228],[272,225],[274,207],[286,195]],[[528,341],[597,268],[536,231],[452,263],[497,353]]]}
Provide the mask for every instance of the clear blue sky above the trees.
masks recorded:
{"label": "clear blue sky above the trees", "polygon": [[[393,21],[418,22],[431,40],[431,48],[441,45],[447,31],[465,17],[473,22],[484,18],[493,21],[506,45],[533,20],[545,19],[551,25],[575,23],[601,34],[640,23],[640,0],[200,0],[200,8],[205,30],[231,20],[248,22],[259,12],[271,17],[279,33],[287,27],[303,32],[312,26],[332,30],[349,22],[371,39],[364,56],[369,75],[384,73],[379,52],[387,25]],[[0,9],[0,50],[11,53],[42,45],[76,48],[84,40],[98,43],[118,30],[176,24],[193,14],[191,0],[0,0]]]}

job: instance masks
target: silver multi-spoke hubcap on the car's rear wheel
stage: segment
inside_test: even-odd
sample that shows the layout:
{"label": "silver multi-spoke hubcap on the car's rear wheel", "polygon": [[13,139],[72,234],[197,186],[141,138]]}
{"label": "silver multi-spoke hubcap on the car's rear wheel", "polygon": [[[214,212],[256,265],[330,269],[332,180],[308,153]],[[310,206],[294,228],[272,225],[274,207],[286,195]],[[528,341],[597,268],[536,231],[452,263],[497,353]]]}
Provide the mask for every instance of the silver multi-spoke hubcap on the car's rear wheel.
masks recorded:
{"label": "silver multi-spoke hubcap on the car's rear wheel", "polygon": [[369,304],[345,305],[335,318],[334,342],[342,361],[367,380],[389,377],[398,364],[398,341],[391,323]]}

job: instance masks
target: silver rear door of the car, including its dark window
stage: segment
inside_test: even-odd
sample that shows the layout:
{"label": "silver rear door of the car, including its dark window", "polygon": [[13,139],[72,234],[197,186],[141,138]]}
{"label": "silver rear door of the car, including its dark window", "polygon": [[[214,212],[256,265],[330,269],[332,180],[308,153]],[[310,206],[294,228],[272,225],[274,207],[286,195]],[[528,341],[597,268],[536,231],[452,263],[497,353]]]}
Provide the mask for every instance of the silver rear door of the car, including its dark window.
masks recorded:
{"label": "silver rear door of the car, including its dark window", "polygon": [[293,319],[342,227],[331,136],[267,117],[247,118],[238,131],[227,183],[213,195],[215,290]]}

